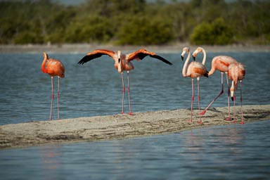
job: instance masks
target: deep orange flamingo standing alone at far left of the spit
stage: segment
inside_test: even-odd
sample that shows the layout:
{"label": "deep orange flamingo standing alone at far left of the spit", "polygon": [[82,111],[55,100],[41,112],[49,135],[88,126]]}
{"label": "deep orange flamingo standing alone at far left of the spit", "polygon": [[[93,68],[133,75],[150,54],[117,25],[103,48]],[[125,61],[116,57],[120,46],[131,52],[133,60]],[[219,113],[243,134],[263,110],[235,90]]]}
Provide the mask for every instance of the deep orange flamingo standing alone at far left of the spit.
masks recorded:
{"label": "deep orange flamingo standing alone at far left of the spit", "polygon": [[51,115],[53,112],[53,77],[58,77],[58,90],[57,90],[57,113],[58,113],[58,120],[59,120],[59,86],[60,86],[60,77],[65,77],[65,66],[61,63],[60,60],[56,60],[53,58],[49,58],[48,54],[45,52],[43,53],[44,60],[41,64],[41,71],[47,73],[51,76],[51,113],[50,113],[50,121]]}

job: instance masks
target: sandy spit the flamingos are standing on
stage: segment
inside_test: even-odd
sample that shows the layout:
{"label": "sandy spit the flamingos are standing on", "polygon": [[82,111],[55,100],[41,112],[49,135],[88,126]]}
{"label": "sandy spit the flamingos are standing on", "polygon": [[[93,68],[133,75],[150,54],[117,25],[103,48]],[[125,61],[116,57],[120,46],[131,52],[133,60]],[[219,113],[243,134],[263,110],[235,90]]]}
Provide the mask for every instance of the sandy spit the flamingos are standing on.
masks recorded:
{"label": "sandy spit the flamingos are standing on", "polygon": [[[270,105],[245,105],[245,124],[270,119]],[[190,110],[161,110],[131,115],[106,115],[75,119],[35,121],[0,126],[0,149],[39,146],[49,143],[70,143],[125,139],[136,136],[169,134],[186,129],[231,124],[224,119],[227,108],[210,108],[198,124],[198,110],[189,123]],[[236,106],[236,119],[240,122],[240,107]],[[244,124],[244,126],[245,126]]]}

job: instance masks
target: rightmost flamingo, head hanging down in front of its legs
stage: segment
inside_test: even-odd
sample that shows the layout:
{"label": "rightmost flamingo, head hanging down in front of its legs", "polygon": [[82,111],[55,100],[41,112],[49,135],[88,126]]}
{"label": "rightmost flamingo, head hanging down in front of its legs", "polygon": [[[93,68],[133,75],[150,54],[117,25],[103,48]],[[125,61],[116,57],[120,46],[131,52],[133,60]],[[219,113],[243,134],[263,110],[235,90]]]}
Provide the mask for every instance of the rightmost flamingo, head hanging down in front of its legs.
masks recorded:
{"label": "rightmost flamingo, head hanging down in front of its legs", "polygon": [[233,100],[233,122],[236,122],[234,118],[235,106],[236,106],[236,94],[238,81],[240,81],[240,102],[241,102],[241,113],[242,113],[242,122],[240,124],[244,124],[243,120],[243,108],[242,108],[242,80],[245,77],[245,65],[242,63],[232,63],[228,68],[228,76],[232,80],[231,82],[231,99]]}

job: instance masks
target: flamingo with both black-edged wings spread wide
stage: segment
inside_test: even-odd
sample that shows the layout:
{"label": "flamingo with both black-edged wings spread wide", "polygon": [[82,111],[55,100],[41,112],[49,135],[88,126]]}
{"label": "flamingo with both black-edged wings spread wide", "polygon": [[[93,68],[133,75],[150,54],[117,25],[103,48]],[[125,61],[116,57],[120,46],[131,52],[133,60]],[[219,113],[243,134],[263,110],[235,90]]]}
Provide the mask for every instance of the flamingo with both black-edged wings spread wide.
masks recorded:
{"label": "flamingo with both black-edged wings spread wide", "polygon": [[118,70],[118,72],[121,74],[122,77],[122,114],[124,114],[124,92],[125,92],[125,86],[124,86],[124,77],[123,72],[127,71],[127,92],[128,92],[128,98],[129,98],[129,115],[133,115],[131,113],[131,103],[130,103],[130,90],[129,90],[129,71],[134,69],[134,65],[131,63],[131,60],[142,60],[146,56],[150,56],[151,58],[156,58],[159,60],[162,60],[164,63],[167,63],[169,65],[172,65],[168,60],[165,58],[162,58],[161,56],[156,55],[153,52],[146,51],[146,49],[139,49],[138,51],[134,51],[133,53],[128,54],[122,54],[121,51],[110,51],[106,49],[96,49],[95,51],[92,51],[91,53],[87,53],[82,60],[79,61],[78,64],[84,64],[88,62],[89,60],[92,60],[94,58],[99,58],[103,55],[108,55],[113,60],[115,60],[115,68]]}

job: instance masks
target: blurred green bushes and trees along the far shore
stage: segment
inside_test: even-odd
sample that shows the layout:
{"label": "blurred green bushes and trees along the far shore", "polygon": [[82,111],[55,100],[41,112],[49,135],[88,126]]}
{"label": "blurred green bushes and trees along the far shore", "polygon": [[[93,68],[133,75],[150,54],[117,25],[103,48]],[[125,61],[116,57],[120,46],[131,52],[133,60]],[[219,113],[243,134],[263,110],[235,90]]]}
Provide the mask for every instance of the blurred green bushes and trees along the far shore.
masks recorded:
{"label": "blurred green bushes and trees along the far shore", "polygon": [[[151,3],[150,3],[151,2]],[[0,44],[269,44],[270,2],[1,1]]]}

